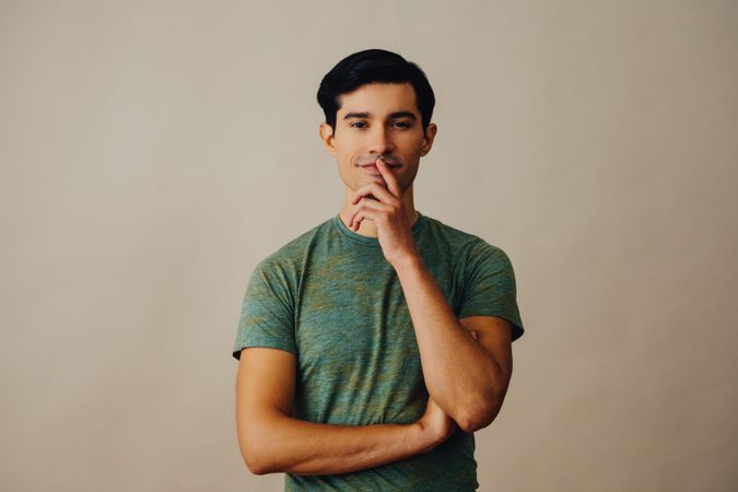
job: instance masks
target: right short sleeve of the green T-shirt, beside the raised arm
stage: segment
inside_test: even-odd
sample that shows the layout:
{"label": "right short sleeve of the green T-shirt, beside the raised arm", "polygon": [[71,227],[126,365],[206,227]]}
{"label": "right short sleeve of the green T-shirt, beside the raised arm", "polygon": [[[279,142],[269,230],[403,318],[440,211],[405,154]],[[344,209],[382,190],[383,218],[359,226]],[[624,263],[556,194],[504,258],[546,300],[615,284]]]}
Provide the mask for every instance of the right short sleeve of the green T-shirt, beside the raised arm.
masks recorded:
{"label": "right short sleeve of the green T-shirt, beside the raised arm", "polygon": [[505,318],[513,325],[512,340],[520,338],[525,329],[517,306],[515,272],[505,251],[479,239],[469,248],[462,270],[459,319],[468,316]]}

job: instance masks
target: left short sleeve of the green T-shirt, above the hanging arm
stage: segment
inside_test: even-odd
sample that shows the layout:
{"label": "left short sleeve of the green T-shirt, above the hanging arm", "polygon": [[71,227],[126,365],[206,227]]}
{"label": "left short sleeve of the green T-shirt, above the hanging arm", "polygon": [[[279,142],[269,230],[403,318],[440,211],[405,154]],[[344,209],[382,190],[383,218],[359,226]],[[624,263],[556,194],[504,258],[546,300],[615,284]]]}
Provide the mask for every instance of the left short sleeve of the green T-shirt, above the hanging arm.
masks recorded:
{"label": "left short sleeve of the green T-shirt, above the hanging arm", "polygon": [[247,347],[281,349],[297,354],[294,302],[289,271],[262,260],[251,272],[244,295],[233,356]]}

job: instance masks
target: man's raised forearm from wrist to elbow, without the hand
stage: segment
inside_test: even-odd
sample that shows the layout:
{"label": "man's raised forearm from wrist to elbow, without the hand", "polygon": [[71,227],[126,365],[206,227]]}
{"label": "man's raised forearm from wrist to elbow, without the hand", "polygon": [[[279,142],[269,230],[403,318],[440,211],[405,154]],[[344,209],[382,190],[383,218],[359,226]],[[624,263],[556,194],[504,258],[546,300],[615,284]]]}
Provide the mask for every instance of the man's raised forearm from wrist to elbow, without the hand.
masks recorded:
{"label": "man's raised forearm from wrist to elbow, without the hand", "polygon": [[489,413],[502,384],[500,367],[456,318],[420,257],[395,265],[415,330],[429,394],[461,427]]}

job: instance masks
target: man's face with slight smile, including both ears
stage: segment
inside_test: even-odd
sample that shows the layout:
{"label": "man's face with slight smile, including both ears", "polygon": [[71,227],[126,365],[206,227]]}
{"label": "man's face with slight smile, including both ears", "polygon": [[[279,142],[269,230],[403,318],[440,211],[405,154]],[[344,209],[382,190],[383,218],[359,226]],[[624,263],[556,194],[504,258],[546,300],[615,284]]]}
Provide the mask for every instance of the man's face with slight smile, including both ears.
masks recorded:
{"label": "man's face with slight smile, including both ears", "polygon": [[[352,190],[371,181],[385,185],[378,169],[363,167],[377,156],[390,165],[405,191],[418,174],[420,157],[433,144],[436,126],[430,124],[423,134],[415,91],[410,83],[371,83],[340,96],[336,133],[320,124],[320,137],[345,186]],[[386,186],[386,185],[385,185]]]}

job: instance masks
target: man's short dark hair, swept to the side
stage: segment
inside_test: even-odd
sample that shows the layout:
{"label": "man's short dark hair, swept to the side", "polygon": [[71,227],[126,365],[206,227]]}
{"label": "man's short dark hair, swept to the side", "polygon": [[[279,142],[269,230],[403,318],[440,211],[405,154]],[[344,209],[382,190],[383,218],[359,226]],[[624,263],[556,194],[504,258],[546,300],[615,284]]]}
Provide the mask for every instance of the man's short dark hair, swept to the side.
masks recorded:
{"label": "man's short dark hair, swept to the side", "polygon": [[318,104],[326,115],[326,122],[336,134],[336,115],[340,109],[339,96],[368,83],[409,82],[415,91],[415,105],[420,112],[423,134],[431,122],[435,96],[425,73],[412,61],[384,49],[365,49],[339,61],[320,81]]}

